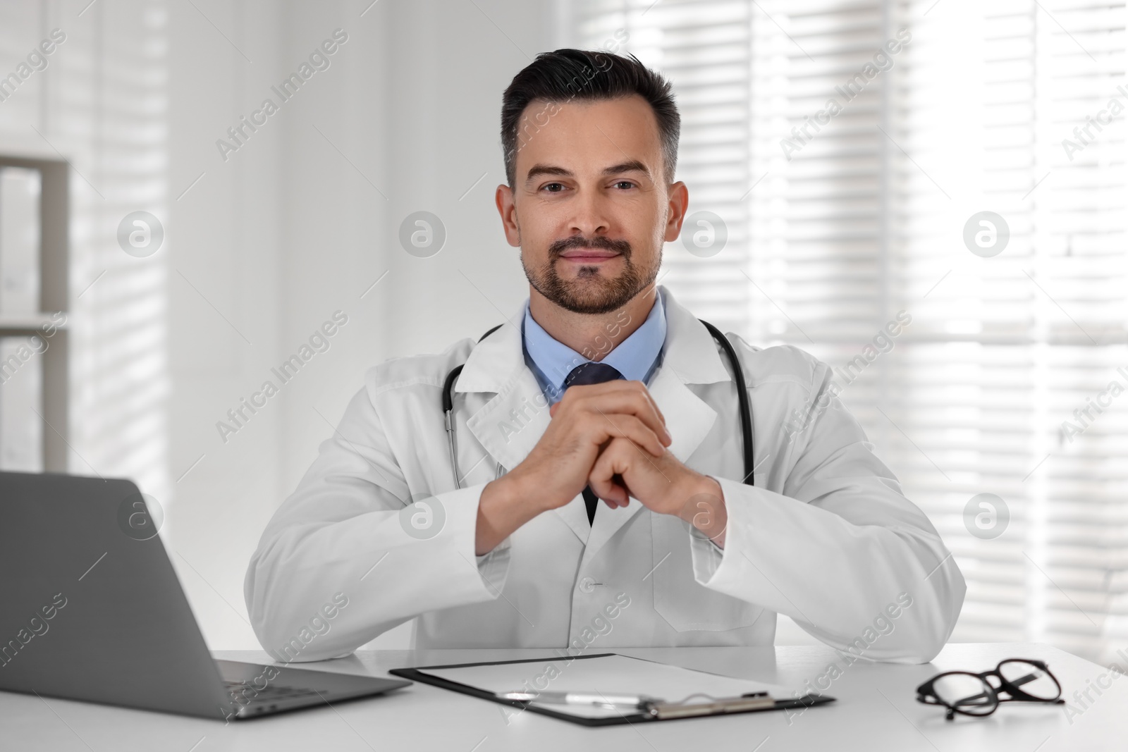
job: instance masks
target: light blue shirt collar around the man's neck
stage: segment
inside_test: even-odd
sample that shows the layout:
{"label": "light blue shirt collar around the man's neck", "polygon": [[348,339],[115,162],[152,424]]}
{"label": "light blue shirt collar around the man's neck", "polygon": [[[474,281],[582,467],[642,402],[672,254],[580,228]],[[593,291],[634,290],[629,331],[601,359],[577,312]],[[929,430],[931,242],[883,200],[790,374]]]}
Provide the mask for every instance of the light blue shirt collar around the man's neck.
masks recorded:
{"label": "light blue shirt collar around the man's neck", "polygon": [[[614,326],[614,325],[613,325]],[[529,312],[529,303],[525,303],[525,320],[521,324],[521,339],[525,346],[525,363],[537,378],[541,391],[548,398],[548,404],[559,401],[564,396],[564,379],[581,363],[589,362],[567,345],[556,340],[537,324]],[[607,337],[609,340],[610,337]],[[646,320],[631,336],[624,339],[611,352],[603,355],[600,363],[614,366],[628,381],[649,383],[651,375],[658,370],[662,357],[662,345],[666,344],[666,306],[662,302],[662,291],[654,295]],[[598,343],[597,343],[598,346]],[[593,353],[598,354],[598,353]]]}

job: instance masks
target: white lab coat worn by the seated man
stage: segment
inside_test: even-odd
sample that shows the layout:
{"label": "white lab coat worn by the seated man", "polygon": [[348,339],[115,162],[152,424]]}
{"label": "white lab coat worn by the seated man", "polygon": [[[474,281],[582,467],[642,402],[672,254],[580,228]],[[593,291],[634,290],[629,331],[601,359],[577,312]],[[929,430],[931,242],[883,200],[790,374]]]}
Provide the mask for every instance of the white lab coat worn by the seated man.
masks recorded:
{"label": "white lab coat worn by the seated man", "polygon": [[[263,646],[282,660],[336,657],[409,619],[417,648],[770,645],[785,613],[867,658],[935,656],[959,616],[963,577],[826,392],[829,368],[795,347],[760,350],[729,335],[752,408],[756,486],[744,485],[723,352],[660,290],[668,331],[649,388],[670,451],[724,490],[723,551],[637,499],[600,503],[589,527],[576,496],[475,556],[483,487],[523,460],[549,422],[519,326],[506,325],[477,345],[369,370],[250,560],[245,594]],[[464,362],[455,422],[466,478],[456,489],[441,391]],[[812,405],[796,432],[794,416]],[[429,496],[430,528],[424,507],[400,513]],[[408,534],[414,515],[437,534]],[[347,605],[324,609],[334,598]]]}

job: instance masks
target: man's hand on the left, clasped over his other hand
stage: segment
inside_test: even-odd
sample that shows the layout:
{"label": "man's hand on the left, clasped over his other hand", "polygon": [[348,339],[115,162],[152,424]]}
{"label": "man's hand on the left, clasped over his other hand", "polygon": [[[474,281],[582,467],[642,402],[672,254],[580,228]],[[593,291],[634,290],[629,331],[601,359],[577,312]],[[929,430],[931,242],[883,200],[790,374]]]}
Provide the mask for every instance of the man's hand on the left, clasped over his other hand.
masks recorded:
{"label": "man's hand on the left, clasped over his other hand", "polygon": [[662,412],[641,381],[571,387],[549,415],[552,421],[529,455],[482,490],[475,536],[478,556],[541,512],[575,498],[611,439],[625,436],[654,457],[662,457],[672,441]]}

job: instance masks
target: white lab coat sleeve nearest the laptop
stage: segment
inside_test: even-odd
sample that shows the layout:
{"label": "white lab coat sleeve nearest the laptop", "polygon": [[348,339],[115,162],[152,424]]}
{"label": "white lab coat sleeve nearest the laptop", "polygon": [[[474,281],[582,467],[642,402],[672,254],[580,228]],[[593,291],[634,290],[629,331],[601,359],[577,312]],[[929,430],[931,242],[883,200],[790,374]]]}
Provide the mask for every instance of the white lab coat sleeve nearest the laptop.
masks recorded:
{"label": "white lab coat sleeve nearest the laptop", "polygon": [[475,556],[484,487],[411,497],[362,389],[250,559],[244,595],[263,647],[284,662],[340,657],[420,613],[496,599],[510,542]]}

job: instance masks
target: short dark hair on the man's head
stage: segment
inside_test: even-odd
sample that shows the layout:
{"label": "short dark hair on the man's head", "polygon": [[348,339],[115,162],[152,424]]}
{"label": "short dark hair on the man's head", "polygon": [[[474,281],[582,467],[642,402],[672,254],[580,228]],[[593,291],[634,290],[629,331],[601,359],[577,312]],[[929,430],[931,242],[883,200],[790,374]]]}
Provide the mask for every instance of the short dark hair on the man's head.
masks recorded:
{"label": "short dark hair on the man's head", "polygon": [[[513,77],[501,99],[501,145],[505,157],[505,179],[517,180],[517,126],[532,101],[566,104],[572,99],[618,99],[637,94],[654,110],[662,140],[667,183],[673,182],[678,163],[678,135],[681,116],[673,103],[670,82],[650,70],[634,55],[624,57],[601,50],[557,50],[543,52]],[[553,113],[555,114],[555,113]],[[532,132],[546,123],[530,123]],[[532,138],[531,134],[529,138]]]}

